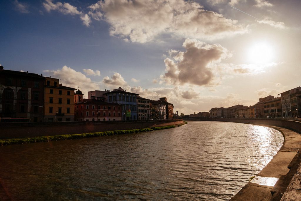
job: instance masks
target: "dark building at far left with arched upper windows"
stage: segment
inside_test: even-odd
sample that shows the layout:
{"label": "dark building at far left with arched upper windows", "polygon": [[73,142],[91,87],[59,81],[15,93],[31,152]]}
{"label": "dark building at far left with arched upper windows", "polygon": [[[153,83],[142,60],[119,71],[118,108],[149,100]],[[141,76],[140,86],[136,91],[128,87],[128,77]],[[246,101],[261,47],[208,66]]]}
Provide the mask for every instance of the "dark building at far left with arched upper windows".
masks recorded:
{"label": "dark building at far left with arched upper windows", "polygon": [[4,70],[0,66],[0,117],[43,121],[43,75]]}

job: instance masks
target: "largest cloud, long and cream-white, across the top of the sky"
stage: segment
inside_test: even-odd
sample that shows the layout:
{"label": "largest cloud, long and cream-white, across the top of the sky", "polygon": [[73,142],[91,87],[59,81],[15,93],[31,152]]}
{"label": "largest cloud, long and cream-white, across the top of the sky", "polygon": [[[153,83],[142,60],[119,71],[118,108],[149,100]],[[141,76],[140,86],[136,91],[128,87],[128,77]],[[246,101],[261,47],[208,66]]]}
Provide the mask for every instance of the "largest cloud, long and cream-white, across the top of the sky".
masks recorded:
{"label": "largest cloud, long and cream-white, across the top of the sky", "polygon": [[145,43],[163,33],[196,39],[215,39],[245,33],[243,25],[206,11],[193,1],[98,1],[89,7],[95,20],[110,24],[110,35]]}

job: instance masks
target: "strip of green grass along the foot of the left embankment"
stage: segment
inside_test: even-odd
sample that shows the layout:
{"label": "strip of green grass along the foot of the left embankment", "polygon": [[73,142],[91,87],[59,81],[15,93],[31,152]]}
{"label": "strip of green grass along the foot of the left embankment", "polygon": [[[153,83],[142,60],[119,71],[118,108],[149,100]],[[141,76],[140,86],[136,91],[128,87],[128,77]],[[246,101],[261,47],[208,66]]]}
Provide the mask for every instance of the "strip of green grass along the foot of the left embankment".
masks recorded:
{"label": "strip of green grass along the foot of the left embankment", "polygon": [[[181,125],[184,124],[187,124],[187,122]],[[82,134],[71,134],[71,135],[54,135],[54,136],[42,136],[42,137],[33,137],[33,138],[13,138],[13,139],[4,139],[4,140],[0,139],[0,145],[26,144],[26,143],[49,142],[49,141],[59,141],[59,140],[73,140],[73,139],[80,139],[80,138],[93,138],[93,137],[102,137],[102,136],[109,136],[109,135],[122,135],[128,133],[155,131],[155,130],[162,130],[168,128],[175,128],[175,127],[176,127],[175,125],[170,125],[170,126],[140,128],[140,129],[132,129],[132,130],[104,131],[104,132],[82,133]]]}

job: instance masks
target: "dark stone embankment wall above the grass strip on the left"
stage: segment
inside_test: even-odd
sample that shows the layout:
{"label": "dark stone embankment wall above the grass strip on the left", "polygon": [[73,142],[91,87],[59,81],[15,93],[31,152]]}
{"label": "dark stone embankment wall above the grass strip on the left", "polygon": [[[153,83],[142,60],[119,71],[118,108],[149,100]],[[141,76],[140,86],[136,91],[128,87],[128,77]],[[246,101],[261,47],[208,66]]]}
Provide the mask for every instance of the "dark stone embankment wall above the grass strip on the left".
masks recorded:
{"label": "dark stone embankment wall above the grass strip on the left", "polygon": [[179,125],[183,119],[101,122],[0,123],[0,139],[71,135]]}

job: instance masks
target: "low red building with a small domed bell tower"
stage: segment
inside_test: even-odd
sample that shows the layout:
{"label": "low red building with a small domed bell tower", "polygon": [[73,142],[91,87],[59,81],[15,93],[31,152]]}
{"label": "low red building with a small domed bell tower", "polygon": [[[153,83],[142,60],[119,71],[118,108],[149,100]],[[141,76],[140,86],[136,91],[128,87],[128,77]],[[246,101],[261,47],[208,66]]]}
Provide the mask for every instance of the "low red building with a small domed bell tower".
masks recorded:
{"label": "low red building with a small domed bell tower", "polygon": [[97,99],[82,99],[82,92],[76,91],[75,120],[76,121],[120,121],[122,105],[107,103]]}

